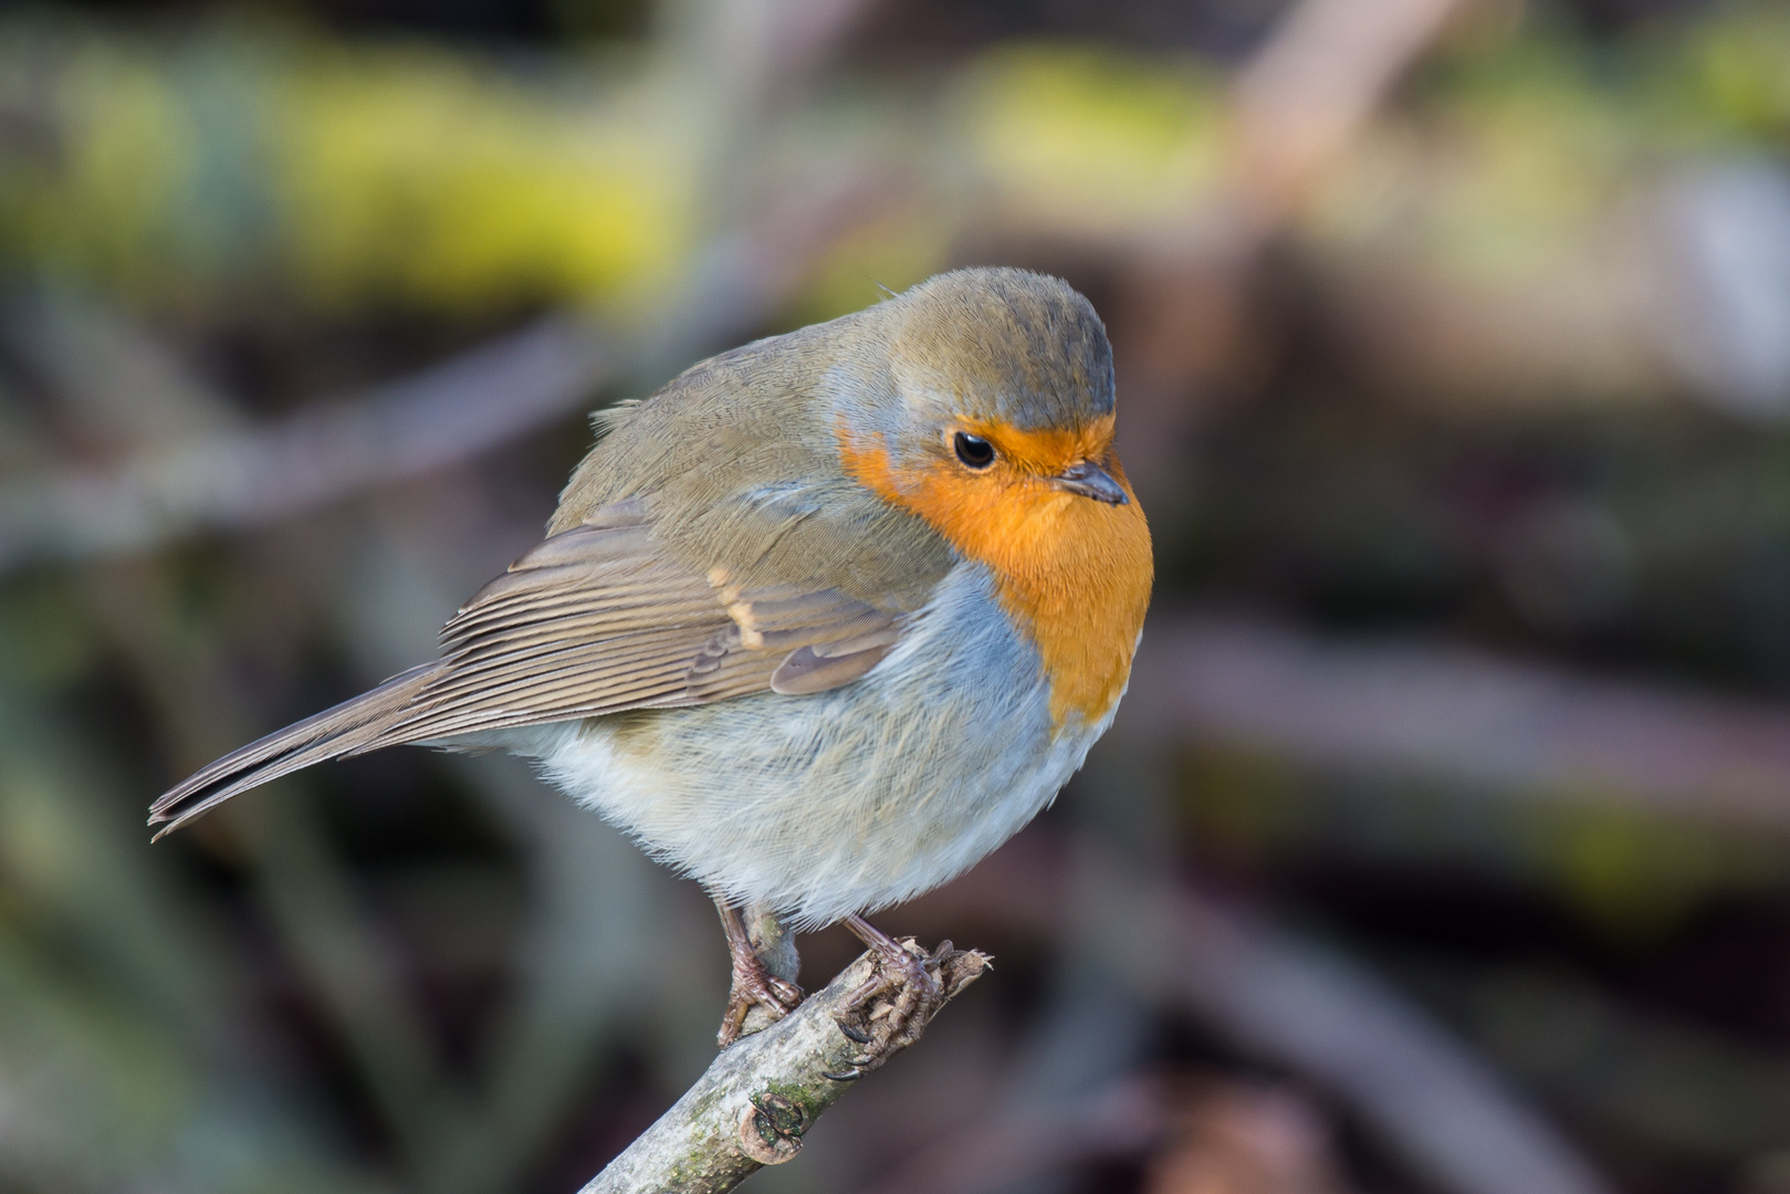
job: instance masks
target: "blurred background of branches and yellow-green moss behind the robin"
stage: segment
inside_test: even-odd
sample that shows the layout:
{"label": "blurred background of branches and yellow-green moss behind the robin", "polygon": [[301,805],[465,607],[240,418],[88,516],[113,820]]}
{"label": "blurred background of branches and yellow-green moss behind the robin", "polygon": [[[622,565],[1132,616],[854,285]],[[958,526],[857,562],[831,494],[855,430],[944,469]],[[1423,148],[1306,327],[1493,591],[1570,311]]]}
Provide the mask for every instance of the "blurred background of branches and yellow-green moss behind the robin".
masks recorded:
{"label": "blurred background of branches and yellow-green moss behind the robin", "polygon": [[[995,954],[754,1189],[1790,1192],[1790,5],[0,5],[0,1190],[569,1192],[703,895],[431,657],[587,412],[968,263],[1104,315],[1158,587]],[[856,947],[804,938],[804,983]]]}

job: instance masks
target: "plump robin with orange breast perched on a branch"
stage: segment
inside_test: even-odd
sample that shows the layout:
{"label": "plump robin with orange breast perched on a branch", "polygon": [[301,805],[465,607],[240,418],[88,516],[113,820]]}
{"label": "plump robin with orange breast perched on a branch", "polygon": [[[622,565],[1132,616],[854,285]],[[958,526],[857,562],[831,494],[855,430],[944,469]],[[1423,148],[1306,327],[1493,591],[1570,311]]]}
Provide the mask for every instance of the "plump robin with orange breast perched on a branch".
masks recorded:
{"label": "plump robin with orange breast perched on a branch", "polygon": [[725,351],[592,417],[546,537],[439,659],[200,768],[150,825],[401,743],[508,750],[714,899],[720,1044],[802,999],[741,909],[857,934],[904,992],[850,1033],[874,1065],[940,990],[866,917],[1051,804],[1129,680],[1155,573],[1115,415],[1094,306],[1020,269]]}

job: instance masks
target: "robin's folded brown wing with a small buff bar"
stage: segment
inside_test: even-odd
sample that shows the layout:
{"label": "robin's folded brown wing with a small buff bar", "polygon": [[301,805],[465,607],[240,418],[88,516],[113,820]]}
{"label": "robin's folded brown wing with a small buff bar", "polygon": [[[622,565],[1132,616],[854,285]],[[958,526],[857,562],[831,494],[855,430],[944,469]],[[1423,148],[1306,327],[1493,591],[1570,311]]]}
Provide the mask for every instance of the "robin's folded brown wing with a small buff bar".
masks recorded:
{"label": "robin's folded brown wing with a small buff bar", "polygon": [[485,585],[442,628],[406,716],[354,754],[625,709],[818,693],[893,650],[902,610],[836,589],[745,591],[668,559],[637,501],[598,510]]}

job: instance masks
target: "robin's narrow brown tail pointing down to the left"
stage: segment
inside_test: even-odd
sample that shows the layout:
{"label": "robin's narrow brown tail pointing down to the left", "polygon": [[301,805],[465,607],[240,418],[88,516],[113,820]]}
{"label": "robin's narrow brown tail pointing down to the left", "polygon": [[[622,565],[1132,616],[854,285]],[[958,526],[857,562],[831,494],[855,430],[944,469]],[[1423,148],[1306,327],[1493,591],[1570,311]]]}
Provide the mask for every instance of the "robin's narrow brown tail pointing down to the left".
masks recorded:
{"label": "robin's narrow brown tail pointing down to the left", "polygon": [[430,662],[401,671],[371,693],[345,700],[335,709],[324,709],[313,718],[304,718],[199,768],[150,806],[149,823],[161,825],[156,838],[270,779],[371,745],[410,709],[410,702],[422,693],[437,668],[439,662]]}

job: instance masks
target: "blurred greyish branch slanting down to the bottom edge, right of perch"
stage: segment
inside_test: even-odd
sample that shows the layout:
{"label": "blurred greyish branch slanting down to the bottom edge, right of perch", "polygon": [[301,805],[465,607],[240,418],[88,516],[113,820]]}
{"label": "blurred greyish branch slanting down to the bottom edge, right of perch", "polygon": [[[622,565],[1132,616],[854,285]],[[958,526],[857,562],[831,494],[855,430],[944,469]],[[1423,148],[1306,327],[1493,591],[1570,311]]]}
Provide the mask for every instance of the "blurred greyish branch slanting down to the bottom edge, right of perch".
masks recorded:
{"label": "blurred greyish branch slanting down to the bottom edge, right of perch", "polygon": [[[1137,695],[1133,695],[1135,704]],[[1060,847],[1027,831],[915,908],[1056,938],[1072,915]],[[1341,954],[1135,865],[1101,863],[1104,965],[1257,1056],[1317,1079],[1450,1194],[1607,1194],[1552,1124],[1419,1006]]]}

